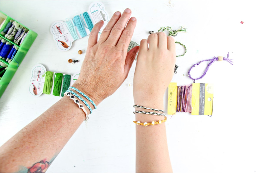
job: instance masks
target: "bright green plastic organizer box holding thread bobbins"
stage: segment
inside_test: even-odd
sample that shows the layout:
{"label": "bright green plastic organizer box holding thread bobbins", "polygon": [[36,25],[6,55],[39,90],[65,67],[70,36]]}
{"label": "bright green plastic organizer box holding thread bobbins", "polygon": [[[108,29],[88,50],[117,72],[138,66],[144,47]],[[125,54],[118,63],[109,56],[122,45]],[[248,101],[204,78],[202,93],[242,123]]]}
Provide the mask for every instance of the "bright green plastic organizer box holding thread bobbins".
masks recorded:
{"label": "bright green plastic organizer box holding thread bobbins", "polygon": [[[2,11],[0,11],[0,17],[6,19],[5,23],[3,24],[2,28],[0,29],[0,32],[2,32],[5,29],[5,26],[8,24],[8,22],[10,22],[10,20],[14,20],[14,19],[7,16]],[[14,20],[14,21],[16,21],[16,20]],[[16,21],[16,22],[19,23],[18,21]],[[21,25],[20,27],[24,26],[21,23],[19,23],[19,24]],[[24,26],[24,27],[26,27],[26,26]],[[28,27],[26,27],[26,28],[29,29]],[[27,54],[29,48],[35,41],[36,37],[37,37],[37,33],[29,29],[27,37],[24,39],[22,44],[20,46],[18,46],[13,41],[5,38],[5,36],[0,34],[0,40],[5,39],[6,41],[12,43],[13,45],[15,45],[19,48],[14,56],[15,60],[18,63],[15,60],[12,60],[9,64],[8,62],[6,62],[6,60],[0,59],[1,62],[8,65],[8,68],[5,71],[5,74],[0,79],[0,98],[1,98],[2,94],[4,93],[6,87],[10,83],[12,77],[14,76],[14,73],[17,71],[18,67],[20,66],[20,63],[22,62],[23,58]]]}

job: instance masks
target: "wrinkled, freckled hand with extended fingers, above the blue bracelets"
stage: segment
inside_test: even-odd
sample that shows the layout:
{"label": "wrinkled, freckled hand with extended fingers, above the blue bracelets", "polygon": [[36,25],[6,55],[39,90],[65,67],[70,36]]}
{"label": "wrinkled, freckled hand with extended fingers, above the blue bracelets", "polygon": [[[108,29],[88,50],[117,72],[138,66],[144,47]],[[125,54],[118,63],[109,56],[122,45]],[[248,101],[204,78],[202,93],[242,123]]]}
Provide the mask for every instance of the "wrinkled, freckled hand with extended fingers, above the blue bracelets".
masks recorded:
{"label": "wrinkled, freckled hand with extended fingers, above the blue bracelets", "polygon": [[123,83],[139,51],[139,46],[136,46],[127,52],[136,26],[136,18],[130,16],[128,8],[122,15],[117,11],[98,41],[98,32],[104,24],[102,20],[90,33],[80,75],[73,86],[88,95],[96,105]]}

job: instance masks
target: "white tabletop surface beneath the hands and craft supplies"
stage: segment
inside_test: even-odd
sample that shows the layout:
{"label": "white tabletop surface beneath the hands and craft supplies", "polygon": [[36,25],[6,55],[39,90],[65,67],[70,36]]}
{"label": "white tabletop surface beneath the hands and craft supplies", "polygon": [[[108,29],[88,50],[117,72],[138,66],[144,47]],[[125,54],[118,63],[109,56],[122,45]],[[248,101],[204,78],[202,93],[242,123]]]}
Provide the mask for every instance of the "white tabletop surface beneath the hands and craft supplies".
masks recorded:
{"label": "white tabletop surface beneath the hands and craft supplies", "polygon": [[[38,33],[0,99],[0,145],[61,98],[29,94],[32,66],[41,63],[49,71],[70,75],[80,69],[85,54],[77,51],[87,47],[88,36],[61,52],[49,27],[55,20],[65,21],[87,11],[91,2],[0,1],[1,11]],[[179,68],[173,82],[178,85],[192,83],[186,75],[194,63],[213,56],[226,57],[230,52],[233,66],[215,62],[197,81],[214,83],[213,116],[167,116],[170,159],[174,172],[256,172],[254,5],[245,1],[173,0],[104,4],[110,16],[125,8],[132,10],[138,20],[132,40],[137,43],[148,37],[149,30],[157,32],[161,26],[188,28],[187,33],[175,37],[187,47],[186,55],[176,61]],[[176,49],[177,54],[183,53],[182,47],[177,45]],[[71,65],[67,62],[70,58],[80,62]],[[206,64],[195,67],[192,76],[201,76]],[[133,83],[135,65],[123,85],[98,106],[88,122],[83,122],[48,172],[135,171],[133,87],[128,86]],[[167,95],[164,103],[167,109]],[[42,133],[45,141],[51,135],[47,129]]]}

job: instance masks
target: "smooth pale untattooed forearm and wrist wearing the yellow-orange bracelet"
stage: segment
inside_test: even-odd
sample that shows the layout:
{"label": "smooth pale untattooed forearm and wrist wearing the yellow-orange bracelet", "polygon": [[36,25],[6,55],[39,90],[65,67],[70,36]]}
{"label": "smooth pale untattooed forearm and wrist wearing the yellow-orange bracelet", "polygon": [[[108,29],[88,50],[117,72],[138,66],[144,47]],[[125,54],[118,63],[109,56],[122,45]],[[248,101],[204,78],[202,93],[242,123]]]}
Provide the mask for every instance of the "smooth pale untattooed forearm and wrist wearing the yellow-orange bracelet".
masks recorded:
{"label": "smooth pale untattooed forearm and wrist wearing the yellow-orange bracelet", "polygon": [[[158,99],[136,100],[135,104],[164,110],[163,100]],[[136,121],[142,123],[158,120],[164,120],[164,116],[136,113]],[[172,172],[165,123],[146,127],[136,125],[136,172]]]}

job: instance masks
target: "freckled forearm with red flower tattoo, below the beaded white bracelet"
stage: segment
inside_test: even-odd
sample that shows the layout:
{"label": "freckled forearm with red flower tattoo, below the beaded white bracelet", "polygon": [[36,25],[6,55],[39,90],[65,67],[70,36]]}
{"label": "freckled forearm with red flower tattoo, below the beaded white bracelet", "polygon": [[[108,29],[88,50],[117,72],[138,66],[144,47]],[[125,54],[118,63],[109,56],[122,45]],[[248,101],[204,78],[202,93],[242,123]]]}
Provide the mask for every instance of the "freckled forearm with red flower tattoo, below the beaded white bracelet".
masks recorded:
{"label": "freckled forearm with red flower tattoo, below the beaded white bracelet", "polygon": [[0,172],[45,172],[84,119],[83,110],[63,97],[0,148]]}

